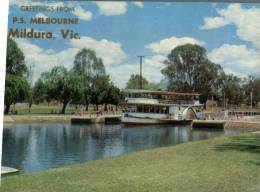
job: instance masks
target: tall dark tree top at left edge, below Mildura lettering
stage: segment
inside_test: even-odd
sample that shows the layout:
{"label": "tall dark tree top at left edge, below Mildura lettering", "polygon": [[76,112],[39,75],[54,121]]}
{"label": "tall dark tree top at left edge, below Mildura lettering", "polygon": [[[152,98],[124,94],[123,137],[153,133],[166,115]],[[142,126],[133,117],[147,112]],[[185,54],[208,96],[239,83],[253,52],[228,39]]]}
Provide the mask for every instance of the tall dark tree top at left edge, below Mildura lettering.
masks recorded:
{"label": "tall dark tree top at left edge, below Mildura lettering", "polygon": [[7,40],[6,73],[20,77],[27,73],[24,54],[11,38]]}

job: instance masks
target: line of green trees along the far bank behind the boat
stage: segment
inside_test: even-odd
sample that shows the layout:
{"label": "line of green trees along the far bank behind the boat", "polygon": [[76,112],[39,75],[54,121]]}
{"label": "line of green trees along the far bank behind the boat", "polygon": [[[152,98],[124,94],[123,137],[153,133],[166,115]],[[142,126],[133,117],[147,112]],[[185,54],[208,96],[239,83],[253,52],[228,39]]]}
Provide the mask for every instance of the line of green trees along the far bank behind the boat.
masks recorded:
{"label": "line of green trees along the far bank behind the boat", "polygon": [[[162,69],[164,80],[161,83],[148,82],[142,77],[143,89],[167,89],[176,92],[197,92],[201,101],[208,98],[239,105],[260,102],[260,79],[253,77],[239,78],[226,74],[219,64],[211,62],[206,56],[206,49],[199,45],[178,46],[169,53]],[[131,72],[130,72],[131,74]],[[129,75],[130,75],[129,74]],[[5,82],[5,114],[10,106],[18,102],[51,102],[63,104],[61,113],[65,113],[68,104],[90,104],[118,106],[124,99],[123,92],[116,87],[106,74],[102,58],[95,51],[84,48],[76,55],[71,69],[57,63],[50,71],[41,74],[31,85],[30,71],[25,64],[25,57],[16,42],[8,38]],[[126,88],[139,88],[140,76],[131,74]]]}

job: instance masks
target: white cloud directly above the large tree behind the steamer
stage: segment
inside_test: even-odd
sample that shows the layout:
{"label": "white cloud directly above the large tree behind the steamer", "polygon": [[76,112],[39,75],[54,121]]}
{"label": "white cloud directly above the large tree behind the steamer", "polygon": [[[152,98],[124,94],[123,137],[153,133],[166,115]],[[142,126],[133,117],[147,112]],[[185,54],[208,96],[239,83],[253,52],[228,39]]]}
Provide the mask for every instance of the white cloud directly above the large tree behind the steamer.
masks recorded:
{"label": "white cloud directly above the large tree behind the steamer", "polygon": [[159,42],[153,42],[146,46],[147,49],[153,51],[154,53],[169,54],[172,49],[177,46],[184,44],[198,44],[205,45],[204,42],[194,39],[192,37],[170,37],[162,39]]}

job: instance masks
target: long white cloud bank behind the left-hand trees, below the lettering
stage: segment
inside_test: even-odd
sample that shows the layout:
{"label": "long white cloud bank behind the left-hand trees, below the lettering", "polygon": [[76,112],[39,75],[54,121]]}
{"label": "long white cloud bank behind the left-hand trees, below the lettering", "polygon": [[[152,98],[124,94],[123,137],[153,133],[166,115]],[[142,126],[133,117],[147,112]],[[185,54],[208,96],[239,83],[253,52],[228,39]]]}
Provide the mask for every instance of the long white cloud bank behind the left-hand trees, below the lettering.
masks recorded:
{"label": "long white cloud bank behind the left-hand trees, below the lettering", "polygon": [[120,63],[126,57],[120,43],[106,39],[99,41],[91,37],[82,37],[80,41],[71,40],[70,47],[59,52],[52,49],[45,50],[28,40],[17,39],[16,42],[24,52],[26,65],[34,66],[33,82],[41,73],[49,71],[54,66],[63,65],[71,69],[75,55],[84,47],[95,50],[97,55],[103,58],[106,68]]}

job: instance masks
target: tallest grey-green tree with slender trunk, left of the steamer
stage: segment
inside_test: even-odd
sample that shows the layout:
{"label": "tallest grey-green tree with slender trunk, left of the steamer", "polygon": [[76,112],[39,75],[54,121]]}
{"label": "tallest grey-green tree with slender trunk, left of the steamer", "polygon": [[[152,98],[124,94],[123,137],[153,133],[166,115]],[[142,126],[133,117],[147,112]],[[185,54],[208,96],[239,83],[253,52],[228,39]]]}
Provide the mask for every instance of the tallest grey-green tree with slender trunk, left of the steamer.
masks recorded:
{"label": "tallest grey-green tree with slender trunk, left of the steamer", "polygon": [[97,77],[106,76],[105,66],[102,59],[96,56],[95,51],[84,48],[76,54],[73,70],[83,76],[84,104],[88,110],[91,100],[98,101],[97,98],[91,99],[90,95],[96,95],[96,93],[91,93],[91,87],[97,83]]}

